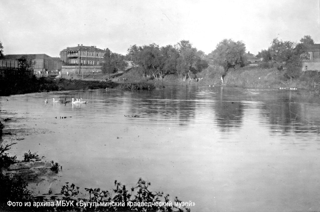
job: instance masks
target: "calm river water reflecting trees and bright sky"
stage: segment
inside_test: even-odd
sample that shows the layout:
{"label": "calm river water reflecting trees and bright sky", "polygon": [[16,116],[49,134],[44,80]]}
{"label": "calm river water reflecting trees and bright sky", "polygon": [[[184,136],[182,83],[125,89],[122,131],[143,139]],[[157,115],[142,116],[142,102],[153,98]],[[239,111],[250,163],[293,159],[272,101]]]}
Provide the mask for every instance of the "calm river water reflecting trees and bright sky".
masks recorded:
{"label": "calm river water reflecting trees and bright sky", "polygon": [[11,154],[63,167],[53,193],[65,182],[111,191],[142,178],[195,202],[191,211],[320,210],[320,103],[299,90],[50,92],[0,97],[0,109],[26,132]]}

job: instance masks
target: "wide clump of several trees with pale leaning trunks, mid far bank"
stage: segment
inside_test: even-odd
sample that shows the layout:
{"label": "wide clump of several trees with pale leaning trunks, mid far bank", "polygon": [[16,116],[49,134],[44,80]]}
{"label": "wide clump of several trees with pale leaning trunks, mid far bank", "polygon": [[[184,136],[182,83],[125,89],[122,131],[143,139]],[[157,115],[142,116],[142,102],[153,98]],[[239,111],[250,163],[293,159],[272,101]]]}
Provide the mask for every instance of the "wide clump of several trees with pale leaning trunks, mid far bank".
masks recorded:
{"label": "wide clump of several trees with pale leaning trunks, mid far bank", "polygon": [[187,79],[193,78],[195,73],[207,67],[207,63],[201,61],[201,54],[203,52],[193,48],[189,41],[181,41],[174,47],[159,47],[155,43],[133,45],[128,49],[126,57],[132,58],[133,63],[140,67],[143,76],[152,75],[155,79],[163,79],[168,74],[180,74]]}

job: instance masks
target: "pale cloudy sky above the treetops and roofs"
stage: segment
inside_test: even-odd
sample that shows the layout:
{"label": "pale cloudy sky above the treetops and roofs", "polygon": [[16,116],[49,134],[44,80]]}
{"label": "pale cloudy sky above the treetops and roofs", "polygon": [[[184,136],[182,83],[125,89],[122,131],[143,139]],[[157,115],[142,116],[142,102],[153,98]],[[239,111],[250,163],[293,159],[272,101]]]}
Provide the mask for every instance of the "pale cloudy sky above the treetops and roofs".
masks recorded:
{"label": "pale cloudy sky above the treetops and roofs", "polygon": [[8,54],[47,54],[78,44],[127,53],[188,40],[211,53],[223,39],[246,51],[274,38],[320,43],[320,0],[1,0],[0,42]]}

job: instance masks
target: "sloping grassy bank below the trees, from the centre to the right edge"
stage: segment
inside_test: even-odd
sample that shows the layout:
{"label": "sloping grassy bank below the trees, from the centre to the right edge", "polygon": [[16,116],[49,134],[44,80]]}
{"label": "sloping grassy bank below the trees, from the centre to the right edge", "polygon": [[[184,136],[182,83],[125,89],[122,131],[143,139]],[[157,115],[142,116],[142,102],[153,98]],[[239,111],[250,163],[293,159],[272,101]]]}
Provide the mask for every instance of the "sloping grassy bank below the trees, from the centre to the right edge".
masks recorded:
{"label": "sloping grassy bank below the trees, from the centre to the right edge", "polygon": [[298,88],[314,91],[319,93],[319,87],[314,88],[313,83],[320,81],[320,72],[305,71],[300,77],[294,79],[286,79],[284,71],[275,68],[260,68],[257,66],[246,66],[240,69],[229,69],[227,74],[221,81],[223,73],[222,67],[210,65],[204,71],[197,73],[196,79],[182,80],[182,77],[171,74],[166,75],[164,79],[156,80],[152,77],[142,78],[141,74],[132,69],[132,71],[125,73],[122,77],[129,82],[147,82],[152,83],[155,87],[172,86],[172,85],[200,85],[200,86],[228,86],[228,87],[244,87],[244,88]]}

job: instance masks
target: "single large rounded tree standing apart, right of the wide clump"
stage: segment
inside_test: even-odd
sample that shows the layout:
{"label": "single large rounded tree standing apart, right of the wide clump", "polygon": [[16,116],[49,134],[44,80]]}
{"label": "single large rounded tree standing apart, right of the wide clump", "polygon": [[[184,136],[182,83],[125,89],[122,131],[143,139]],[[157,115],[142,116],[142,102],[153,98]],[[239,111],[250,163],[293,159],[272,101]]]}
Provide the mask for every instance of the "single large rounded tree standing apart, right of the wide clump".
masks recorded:
{"label": "single large rounded tree standing apart, right of the wide clump", "polygon": [[244,66],[244,53],[244,42],[223,39],[217,44],[216,49],[212,51],[212,56],[215,63],[221,65],[227,72],[229,68]]}

